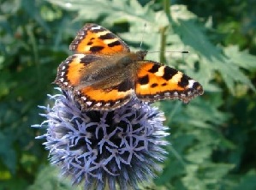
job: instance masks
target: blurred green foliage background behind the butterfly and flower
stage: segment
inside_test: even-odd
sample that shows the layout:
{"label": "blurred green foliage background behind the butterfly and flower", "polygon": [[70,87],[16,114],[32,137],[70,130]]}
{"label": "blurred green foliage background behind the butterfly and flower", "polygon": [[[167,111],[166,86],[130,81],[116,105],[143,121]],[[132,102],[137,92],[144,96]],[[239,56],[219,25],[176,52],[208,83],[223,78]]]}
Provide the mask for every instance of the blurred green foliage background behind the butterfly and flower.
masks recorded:
{"label": "blurred green foliage background behind the butterfly and flower", "polygon": [[[198,80],[205,94],[165,101],[163,172],[148,189],[256,189],[255,0],[0,0],[0,189],[74,189],[35,140],[38,105],[57,93],[57,66],[86,22],[117,33],[146,59]],[[146,27],[144,27],[146,24]],[[190,53],[171,53],[189,50]]]}

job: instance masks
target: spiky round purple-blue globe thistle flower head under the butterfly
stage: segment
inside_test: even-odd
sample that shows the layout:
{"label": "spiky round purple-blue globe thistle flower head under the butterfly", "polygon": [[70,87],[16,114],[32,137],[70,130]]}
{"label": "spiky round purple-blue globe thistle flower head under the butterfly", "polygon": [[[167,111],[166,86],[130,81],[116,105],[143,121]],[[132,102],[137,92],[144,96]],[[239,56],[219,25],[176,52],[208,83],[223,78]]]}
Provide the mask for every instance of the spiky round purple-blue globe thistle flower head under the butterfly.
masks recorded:
{"label": "spiky round purple-blue globe thistle flower head under the butterfly", "polygon": [[47,127],[43,144],[52,164],[84,189],[135,189],[161,170],[166,151],[164,113],[133,98],[116,110],[81,111],[71,92],[49,95],[55,101],[41,114]]}

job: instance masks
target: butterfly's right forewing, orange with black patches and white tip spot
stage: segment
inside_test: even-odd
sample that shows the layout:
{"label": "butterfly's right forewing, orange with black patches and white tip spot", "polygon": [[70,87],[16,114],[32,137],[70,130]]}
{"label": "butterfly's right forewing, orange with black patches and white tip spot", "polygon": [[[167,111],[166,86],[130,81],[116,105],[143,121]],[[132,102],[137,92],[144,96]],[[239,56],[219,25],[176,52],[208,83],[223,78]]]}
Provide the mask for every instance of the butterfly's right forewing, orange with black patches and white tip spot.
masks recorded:
{"label": "butterfly's right forewing, orange with black patches and white tip spot", "polygon": [[135,93],[141,100],[180,99],[188,103],[204,92],[199,82],[175,68],[152,61],[140,61],[138,64]]}

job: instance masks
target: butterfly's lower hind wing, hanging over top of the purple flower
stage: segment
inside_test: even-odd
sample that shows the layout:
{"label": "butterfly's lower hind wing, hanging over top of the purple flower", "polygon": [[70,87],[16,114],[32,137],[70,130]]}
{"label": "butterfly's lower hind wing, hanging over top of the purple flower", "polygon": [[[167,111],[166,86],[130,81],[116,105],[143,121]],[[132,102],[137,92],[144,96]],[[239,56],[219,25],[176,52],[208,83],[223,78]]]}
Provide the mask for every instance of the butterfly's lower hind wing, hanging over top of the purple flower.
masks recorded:
{"label": "butterfly's lower hind wing, hanging over top of the purple flower", "polygon": [[[108,79],[74,91],[74,99],[82,110],[115,110],[127,104],[134,94],[132,80],[115,80],[116,74]],[[117,77],[118,79],[118,77]]]}

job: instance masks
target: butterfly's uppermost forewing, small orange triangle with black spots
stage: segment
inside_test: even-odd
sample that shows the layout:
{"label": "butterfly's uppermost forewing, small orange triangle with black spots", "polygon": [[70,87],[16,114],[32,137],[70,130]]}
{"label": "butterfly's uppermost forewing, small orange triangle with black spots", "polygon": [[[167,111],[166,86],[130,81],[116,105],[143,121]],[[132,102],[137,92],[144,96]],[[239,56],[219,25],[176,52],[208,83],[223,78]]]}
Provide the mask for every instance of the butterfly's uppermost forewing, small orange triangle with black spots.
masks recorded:
{"label": "butterfly's uppermost forewing, small orange triangle with black spots", "polygon": [[86,24],[69,45],[69,50],[78,53],[115,54],[129,52],[128,45],[104,27]]}

